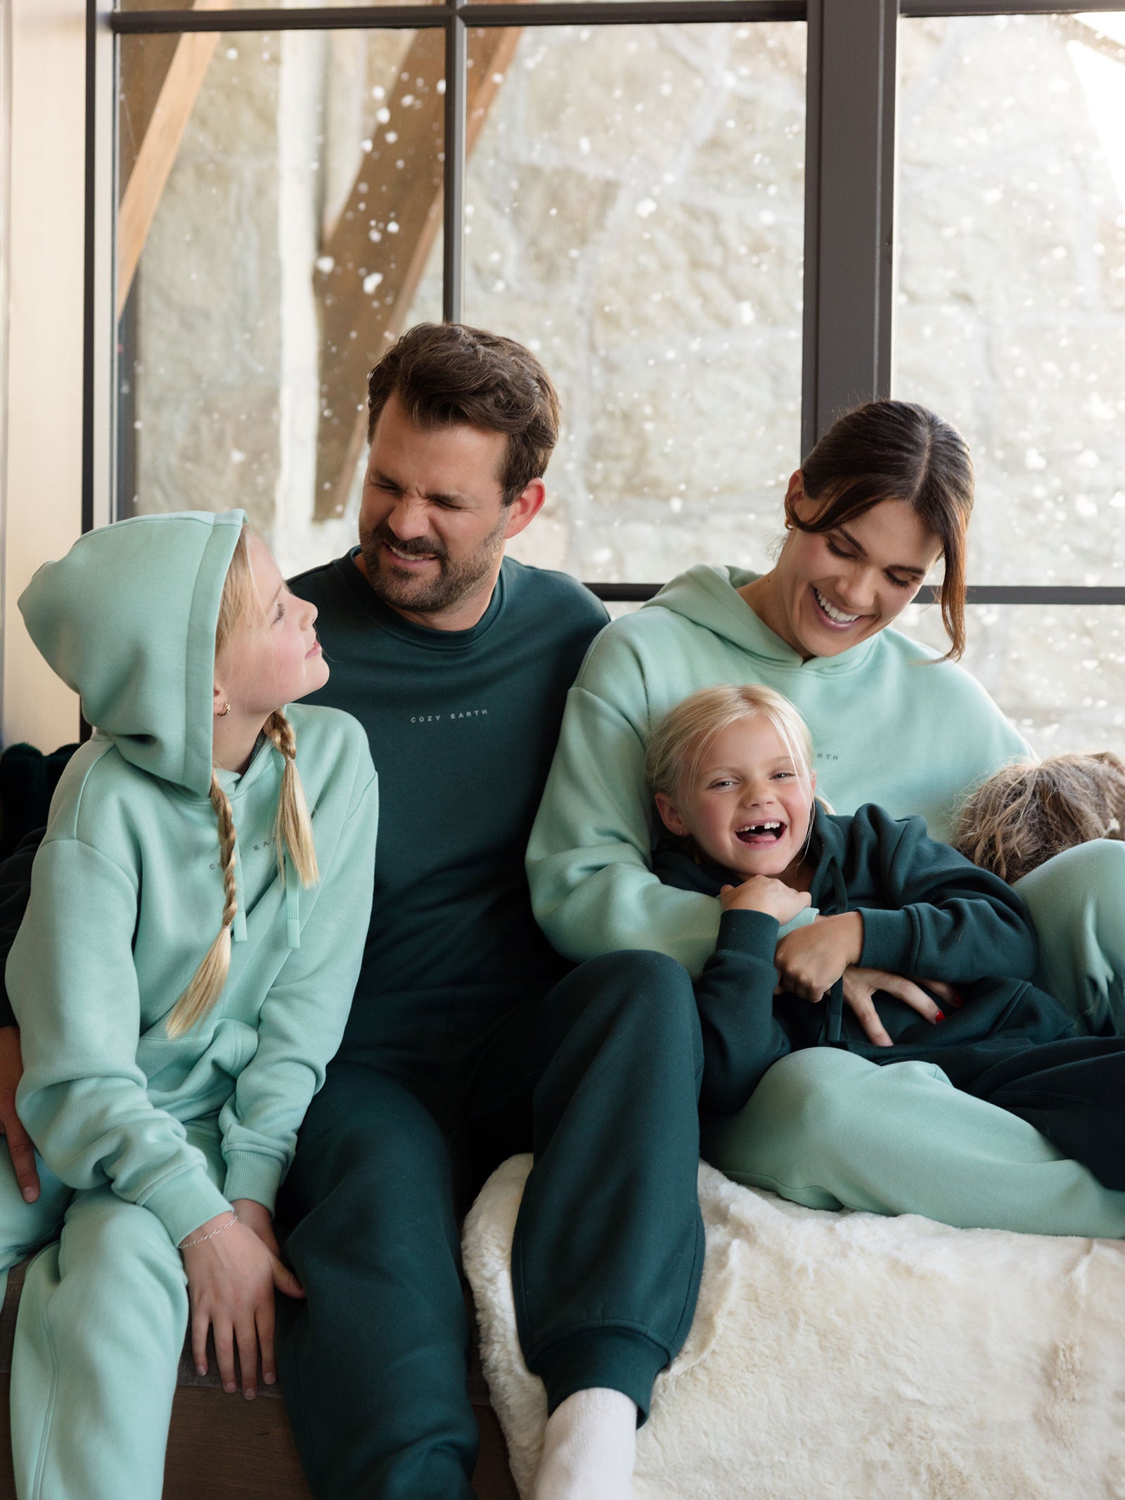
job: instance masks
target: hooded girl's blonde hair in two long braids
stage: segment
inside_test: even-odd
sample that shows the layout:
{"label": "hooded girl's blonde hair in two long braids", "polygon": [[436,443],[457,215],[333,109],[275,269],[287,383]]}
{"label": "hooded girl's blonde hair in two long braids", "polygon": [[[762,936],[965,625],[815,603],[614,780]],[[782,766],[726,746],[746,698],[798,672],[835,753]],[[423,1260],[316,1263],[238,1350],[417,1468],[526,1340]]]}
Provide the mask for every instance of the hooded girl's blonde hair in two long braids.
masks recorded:
{"label": "hooded girl's blonde hair in two long braids", "polygon": [[[219,621],[214,630],[214,654],[222,654],[238,626],[255,610],[261,609],[261,600],[254,584],[250,570],[250,554],[246,546],[248,528],[243,526],[238,543],[226,572],[226,582],[219,602]],[[302,885],[315,885],[320,879],[316,872],[316,849],[312,837],[312,819],[309,804],[304,800],[304,788],[297,774],[297,738],[292,724],[280,710],[276,710],[262,724],[262,732],[273,741],[276,750],[285,758],[280,794],[278,796],[278,820],[274,840],[278,844],[278,868],[282,882],[285,880],[285,854]],[[236,846],[234,846],[234,813],[231,802],[219,778],[212,772],[212,807],[219,819],[219,852],[222,860],[224,908],[219,934],[207,950],[202,963],[192,975],[192,981],[172,1006],[168,1016],[168,1035],[182,1036],[186,1030],[207,1014],[222,994],[226,975],[231,968],[231,926],[238,912],[238,885],[234,879]]]}

